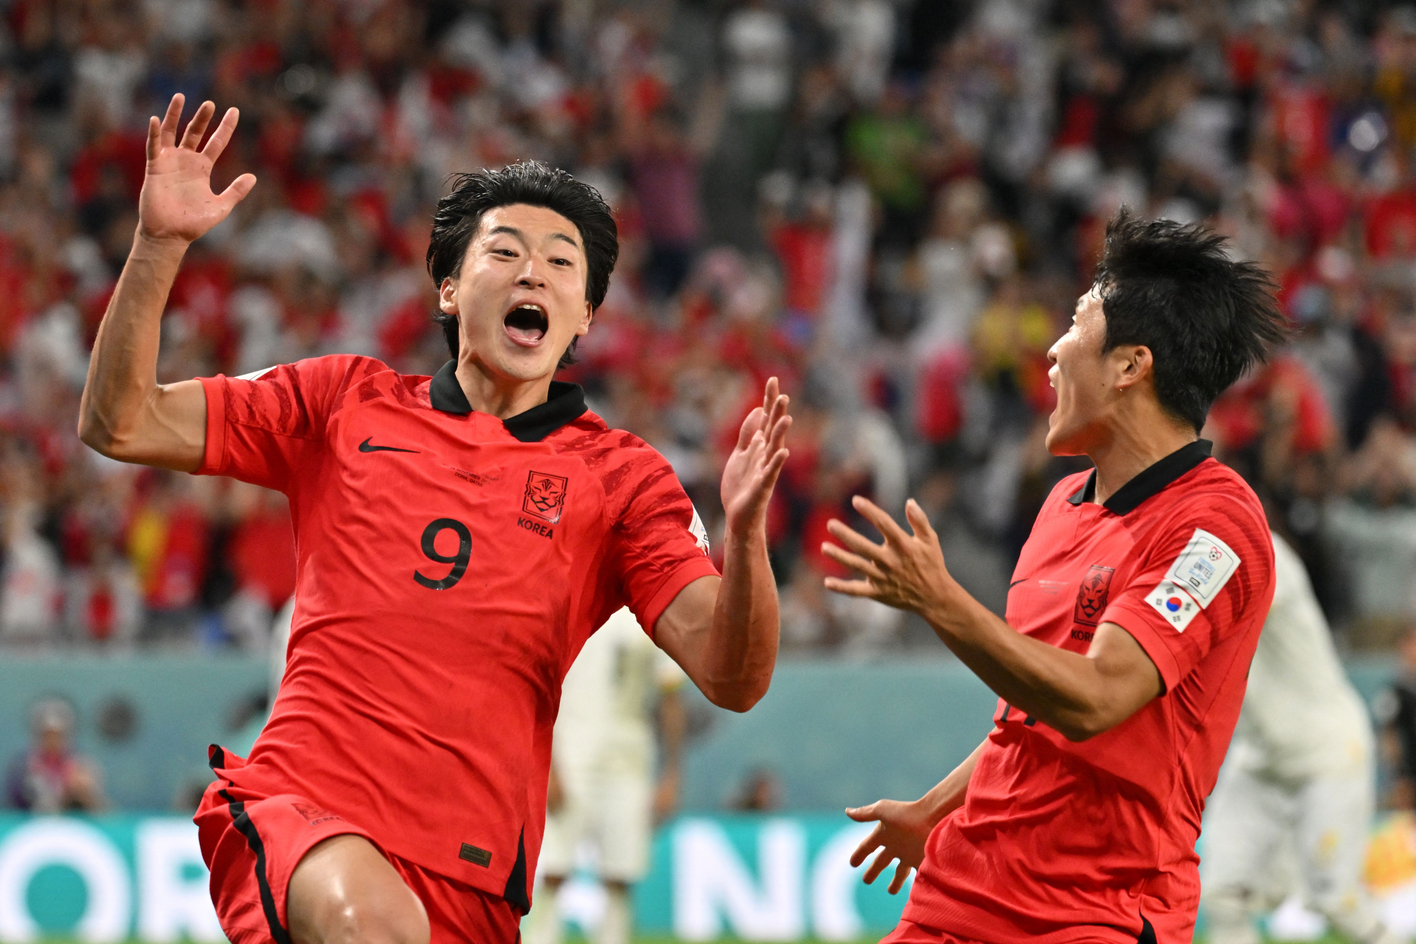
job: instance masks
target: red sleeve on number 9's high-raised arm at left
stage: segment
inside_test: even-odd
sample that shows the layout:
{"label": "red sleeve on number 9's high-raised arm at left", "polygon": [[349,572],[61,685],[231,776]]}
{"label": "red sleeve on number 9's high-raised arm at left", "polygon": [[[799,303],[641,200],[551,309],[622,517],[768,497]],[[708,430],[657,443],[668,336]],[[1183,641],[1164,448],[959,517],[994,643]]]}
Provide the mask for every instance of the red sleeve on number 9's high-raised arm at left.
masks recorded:
{"label": "red sleeve on number 9's high-raised arm at left", "polygon": [[371,358],[333,355],[201,378],[207,447],[197,474],[289,491],[293,470],[323,449],[344,391],[378,369],[382,364]]}

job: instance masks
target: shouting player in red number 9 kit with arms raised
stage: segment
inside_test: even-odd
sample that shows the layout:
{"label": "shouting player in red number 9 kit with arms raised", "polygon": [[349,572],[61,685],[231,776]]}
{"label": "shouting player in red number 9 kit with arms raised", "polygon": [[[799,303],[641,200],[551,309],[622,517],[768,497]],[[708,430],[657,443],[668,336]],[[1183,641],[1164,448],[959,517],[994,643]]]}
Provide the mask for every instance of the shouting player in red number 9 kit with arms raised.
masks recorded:
{"label": "shouting player in red number 9 kit with arms raised", "polygon": [[715,703],[767,689],[777,597],[766,504],[790,419],[776,381],[722,478],[722,576],[668,463],[552,382],[619,252],[592,188],[541,164],[467,174],[429,272],[450,359],[405,376],[321,357],[156,382],[187,246],[255,185],[211,191],[236,127],[183,98],[147,133],[133,248],[79,416],[98,451],[290,498],[289,664],[249,759],[211,750],[197,812],[235,944],[514,941],[545,819],[561,679],[629,606]]}

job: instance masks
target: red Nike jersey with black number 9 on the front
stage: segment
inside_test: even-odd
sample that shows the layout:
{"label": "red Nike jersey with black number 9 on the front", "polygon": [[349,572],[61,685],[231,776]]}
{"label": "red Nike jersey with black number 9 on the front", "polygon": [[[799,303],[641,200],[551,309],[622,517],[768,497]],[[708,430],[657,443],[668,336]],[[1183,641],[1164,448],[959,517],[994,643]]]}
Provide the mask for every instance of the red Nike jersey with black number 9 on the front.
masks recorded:
{"label": "red Nike jersey with black number 9 on the front", "polygon": [[198,471],[286,493],[297,556],[285,681],[229,776],[525,910],[566,669],[620,606],[653,633],[716,570],[673,468],[581,388],[503,422],[453,368],[202,379]]}

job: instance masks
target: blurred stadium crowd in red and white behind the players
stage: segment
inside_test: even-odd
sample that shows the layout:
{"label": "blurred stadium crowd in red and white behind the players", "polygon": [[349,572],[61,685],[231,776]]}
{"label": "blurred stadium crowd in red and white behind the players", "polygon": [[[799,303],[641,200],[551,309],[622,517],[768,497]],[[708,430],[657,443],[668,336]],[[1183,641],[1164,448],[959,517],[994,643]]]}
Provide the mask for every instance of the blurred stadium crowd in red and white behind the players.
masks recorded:
{"label": "blurred stadium crowd in red and white behind the players", "polygon": [[[709,531],[766,376],[789,647],[927,638],[821,590],[845,498],[916,495],[1001,610],[1051,485],[1046,350],[1121,205],[1205,221],[1296,341],[1206,436],[1352,645],[1416,613],[1416,8],[1315,0],[4,0],[0,644],[259,650],[293,586],[282,495],[75,437],[136,225],[146,117],[241,126],[160,379],[334,351],[432,374],[422,259],[447,175],[539,159],[623,251],[566,379],[673,463]],[[1079,461],[1082,463],[1079,466]],[[716,522],[716,524],[715,524]]]}

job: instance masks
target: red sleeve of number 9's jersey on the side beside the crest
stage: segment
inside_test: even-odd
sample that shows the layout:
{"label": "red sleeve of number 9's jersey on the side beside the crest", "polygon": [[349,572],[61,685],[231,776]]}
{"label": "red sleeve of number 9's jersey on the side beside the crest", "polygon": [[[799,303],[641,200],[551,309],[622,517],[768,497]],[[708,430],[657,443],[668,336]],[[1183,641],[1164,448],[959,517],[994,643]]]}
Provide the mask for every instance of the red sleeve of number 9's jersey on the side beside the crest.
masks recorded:
{"label": "red sleeve of number 9's jersey on the side beside the crest", "polygon": [[[639,451],[639,450],[636,450]],[[708,535],[668,460],[643,447],[624,468],[629,501],[610,536],[610,559],[624,600],[650,637],[678,592],[698,577],[716,576]]]}

